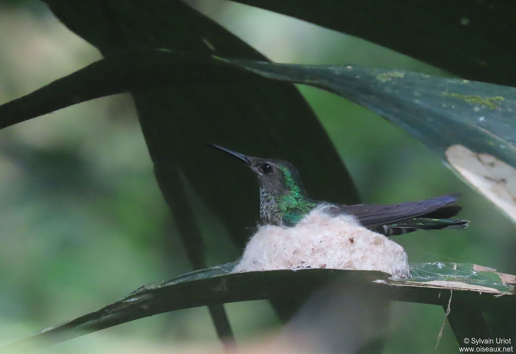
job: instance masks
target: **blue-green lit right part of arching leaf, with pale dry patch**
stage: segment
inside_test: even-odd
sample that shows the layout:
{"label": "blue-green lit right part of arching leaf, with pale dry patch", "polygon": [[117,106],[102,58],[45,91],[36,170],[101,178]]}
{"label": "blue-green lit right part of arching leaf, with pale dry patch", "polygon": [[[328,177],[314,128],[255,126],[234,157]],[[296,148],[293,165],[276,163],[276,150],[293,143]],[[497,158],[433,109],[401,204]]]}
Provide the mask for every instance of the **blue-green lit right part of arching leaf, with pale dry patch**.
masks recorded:
{"label": "blue-green lit right part of arching leaf, with pale dry patch", "polygon": [[[437,151],[516,221],[516,88],[351,65],[229,62],[264,77],[324,88],[378,113]],[[470,153],[450,156],[450,148],[456,146]],[[479,154],[489,160],[480,171],[471,163],[457,163],[469,157],[476,161]],[[484,171],[491,165],[494,168]],[[499,191],[493,193],[491,185],[478,187],[477,180],[489,180]],[[504,194],[509,198],[502,198]]]}

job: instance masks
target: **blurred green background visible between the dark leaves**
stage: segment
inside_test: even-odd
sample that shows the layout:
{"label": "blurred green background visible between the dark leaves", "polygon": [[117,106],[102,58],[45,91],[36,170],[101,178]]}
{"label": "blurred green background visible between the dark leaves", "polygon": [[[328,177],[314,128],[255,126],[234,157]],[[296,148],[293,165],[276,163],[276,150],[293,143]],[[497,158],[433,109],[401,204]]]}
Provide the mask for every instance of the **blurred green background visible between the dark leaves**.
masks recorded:
{"label": "blurred green background visible between the dark leaves", "polygon": [[[221,1],[192,5],[273,61],[448,75],[392,50],[268,11]],[[100,58],[42,2],[0,2],[1,103]],[[357,104],[311,87],[299,90],[327,129],[363,202],[463,194],[460,216],[472,221],[470,227],[394,238],[410,261],[477,263],[516,273],[514,225],[458,180],[439,156]],[[81,103],[4,129],[0,181],[0,344],[115,302],[146,282],[190,270],[130,95]],[[257,192],[250,198],[258,207]],[[223,226],[195,200],[208,262],[221,250],[228,260],[238,257],[229,242],[210,242]],[[267,302],[227,309],[237,340],[278,325]],[[456,350],[449,325],[434,349],[443,319],[437,306],[393,303],[384,352]],[[136,352],[199,343],[218,345],[204,308],[144,318],[43,352]]]}

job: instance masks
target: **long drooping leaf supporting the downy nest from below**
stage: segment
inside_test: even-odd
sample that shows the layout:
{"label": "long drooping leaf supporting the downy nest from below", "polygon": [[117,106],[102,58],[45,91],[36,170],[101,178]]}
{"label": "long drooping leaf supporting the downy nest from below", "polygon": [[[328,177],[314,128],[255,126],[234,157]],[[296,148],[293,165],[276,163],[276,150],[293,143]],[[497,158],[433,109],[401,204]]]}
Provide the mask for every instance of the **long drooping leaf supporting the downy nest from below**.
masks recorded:
{"label": "long drooping leaf supporting the downy nest from below", "polygon": [[[352,285],[373,283],[385,298],[440,306],[448,302],[448,297],[442,296],[441,292],[453,289],[456,290],[454,302],[458,304],[467,304],[479,311],[516,311],[514,286],[506,281],[503,285],[504,280],[501,277],[496,280],[495,276],[489,274],[492,271],[485,267],[480,267],[479,275],[475,271],[475,267],[479,266],[473,264],[413,264],[411,269],[414,278],[400,281],[390,280],[388,274],[376,271],[302,269],[231,273],[234,265],[235,263],[223,264],[170,281],[142,286],[119,302],[47,328],[5,349],[26,348],[34,343],[52,345],[138,318],[206,304],[305,296],[330,281]],[[499,273],[495,273],[496,276],[497,274]],[[514,276],[504,276],[504,279],[514,281]],[[457,286],[455,281],[442,281],[443,277],[460,278],[464,284],[467,282],[471,285],[479,282],[482,286],[478,289],[474,286],[464,288],[462,285]],[[500,287],[501,290],[485,289],[483,285],[486,282],[490,287]]]}

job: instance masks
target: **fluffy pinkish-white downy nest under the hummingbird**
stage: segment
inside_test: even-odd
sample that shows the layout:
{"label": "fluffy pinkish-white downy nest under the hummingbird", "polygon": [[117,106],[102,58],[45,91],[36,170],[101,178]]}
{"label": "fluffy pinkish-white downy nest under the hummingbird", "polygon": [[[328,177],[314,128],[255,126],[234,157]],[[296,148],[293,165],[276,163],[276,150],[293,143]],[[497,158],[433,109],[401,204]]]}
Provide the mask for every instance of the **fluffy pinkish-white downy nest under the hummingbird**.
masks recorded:
{"label": "fluffy pinkish-white downy nest under the hummingbird", "polygon": [[325,214],[324,205],[294,227],[261,226],[233,271],[297,268],[375,270],[410,277],[403,247],[351,216]]}

